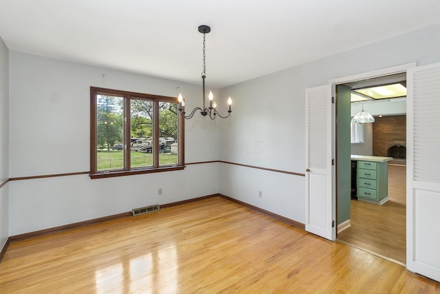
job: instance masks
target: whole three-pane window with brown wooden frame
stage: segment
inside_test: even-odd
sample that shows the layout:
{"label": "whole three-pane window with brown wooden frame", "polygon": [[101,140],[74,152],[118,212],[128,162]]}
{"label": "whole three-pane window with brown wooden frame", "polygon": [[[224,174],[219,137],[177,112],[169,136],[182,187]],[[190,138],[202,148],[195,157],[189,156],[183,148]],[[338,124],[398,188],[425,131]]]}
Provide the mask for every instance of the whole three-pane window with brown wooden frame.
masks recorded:
{"label": "whole three-pane window with brown wooden frame", "polygon": [[90,177],[184,169],[177,98],[90,88]]}

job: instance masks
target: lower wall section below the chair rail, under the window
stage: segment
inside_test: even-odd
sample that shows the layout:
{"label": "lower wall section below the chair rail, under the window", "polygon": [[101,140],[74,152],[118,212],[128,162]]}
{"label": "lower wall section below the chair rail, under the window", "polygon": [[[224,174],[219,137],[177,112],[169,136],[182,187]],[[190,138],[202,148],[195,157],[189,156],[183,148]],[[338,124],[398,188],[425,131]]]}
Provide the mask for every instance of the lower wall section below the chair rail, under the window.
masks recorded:
{"label": "lower wall section below the chair rail, under the window", "polygon": [[10,235],[217,193],[218,165],[98,180],[78,175],[12,181]]}

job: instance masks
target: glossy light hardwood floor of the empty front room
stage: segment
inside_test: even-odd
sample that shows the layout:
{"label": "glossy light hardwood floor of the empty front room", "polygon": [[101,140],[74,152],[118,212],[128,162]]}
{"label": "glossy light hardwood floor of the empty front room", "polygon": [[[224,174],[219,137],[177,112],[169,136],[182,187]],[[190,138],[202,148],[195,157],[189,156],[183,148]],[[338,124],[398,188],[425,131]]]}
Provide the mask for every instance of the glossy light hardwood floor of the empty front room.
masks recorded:
{"label": "glossy light hardwood floor of the empty front room", "polygon": [[223,198],[10,245],[1,293],[438,293],[404,266]]}

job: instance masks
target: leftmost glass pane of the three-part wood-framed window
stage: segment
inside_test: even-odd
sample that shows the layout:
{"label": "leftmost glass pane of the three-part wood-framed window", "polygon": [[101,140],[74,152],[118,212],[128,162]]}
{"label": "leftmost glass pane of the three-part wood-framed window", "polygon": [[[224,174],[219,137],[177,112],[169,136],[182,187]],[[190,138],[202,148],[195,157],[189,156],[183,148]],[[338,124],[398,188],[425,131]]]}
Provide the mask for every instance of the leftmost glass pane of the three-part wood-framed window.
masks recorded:
{"label": "leftmost glass pane of the three-part wood-framed window", "polygon": [[123,98],[98,95],[97,101],[96,170],[123,169]]}

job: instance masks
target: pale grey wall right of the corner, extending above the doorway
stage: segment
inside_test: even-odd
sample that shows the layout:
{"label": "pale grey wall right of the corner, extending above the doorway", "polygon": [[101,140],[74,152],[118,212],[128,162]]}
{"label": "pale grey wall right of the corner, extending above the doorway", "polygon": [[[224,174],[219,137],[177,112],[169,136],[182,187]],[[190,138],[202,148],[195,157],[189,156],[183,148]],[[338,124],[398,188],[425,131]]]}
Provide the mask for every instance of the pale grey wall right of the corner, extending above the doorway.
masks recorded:
{"label": "pale grey wall right of the corner, extending above the doorway", "polygon": [[[440,25],[434,25],[221,89],[221,96],[234,98],[232,118],[220,126],[221,160],[304,174],[307,87],[414,61],[438,62],[438,48]],[[305,222],[304,177],[230,165],[221,165],[220,175],[220,193]],[[264,186],[263,200],[255,192],[261,182],[276,183]]]}

